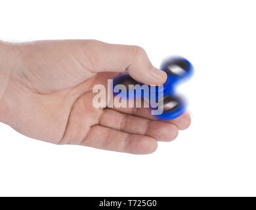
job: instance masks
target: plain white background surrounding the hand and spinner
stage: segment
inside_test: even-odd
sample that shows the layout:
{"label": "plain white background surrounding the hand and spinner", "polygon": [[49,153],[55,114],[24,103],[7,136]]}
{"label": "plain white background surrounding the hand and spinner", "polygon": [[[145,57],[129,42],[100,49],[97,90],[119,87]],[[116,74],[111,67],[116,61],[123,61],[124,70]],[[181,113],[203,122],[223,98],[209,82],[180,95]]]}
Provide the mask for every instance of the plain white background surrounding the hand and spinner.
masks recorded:
{"label": "plain white background surrounding the hand and spinner", "polygon": [[0,124],[0,196],[256,196],[255,1],[0,1],[0,39],[99,39],[194,64],[192,125],[135,156]]}

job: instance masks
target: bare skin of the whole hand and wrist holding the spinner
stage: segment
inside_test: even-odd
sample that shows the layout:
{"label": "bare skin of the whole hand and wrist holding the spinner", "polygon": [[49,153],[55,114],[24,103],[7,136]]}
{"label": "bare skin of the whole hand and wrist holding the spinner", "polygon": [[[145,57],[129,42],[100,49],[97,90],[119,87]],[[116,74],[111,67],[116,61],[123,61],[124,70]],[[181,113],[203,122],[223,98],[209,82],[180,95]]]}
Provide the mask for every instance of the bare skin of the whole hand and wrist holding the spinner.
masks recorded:
{"label": "bare skin of the whole hand and wrist holding the spinner", "polygon": [[[146,108],[95,108],[94,85],[127,71],[161,85],[167,75],[137,46],[96,40],[0,42],[0,121],[54,144],[150,154],[190,125],[186,113],[156,121]],[[107,103],[107,102],[106,102]]]}

